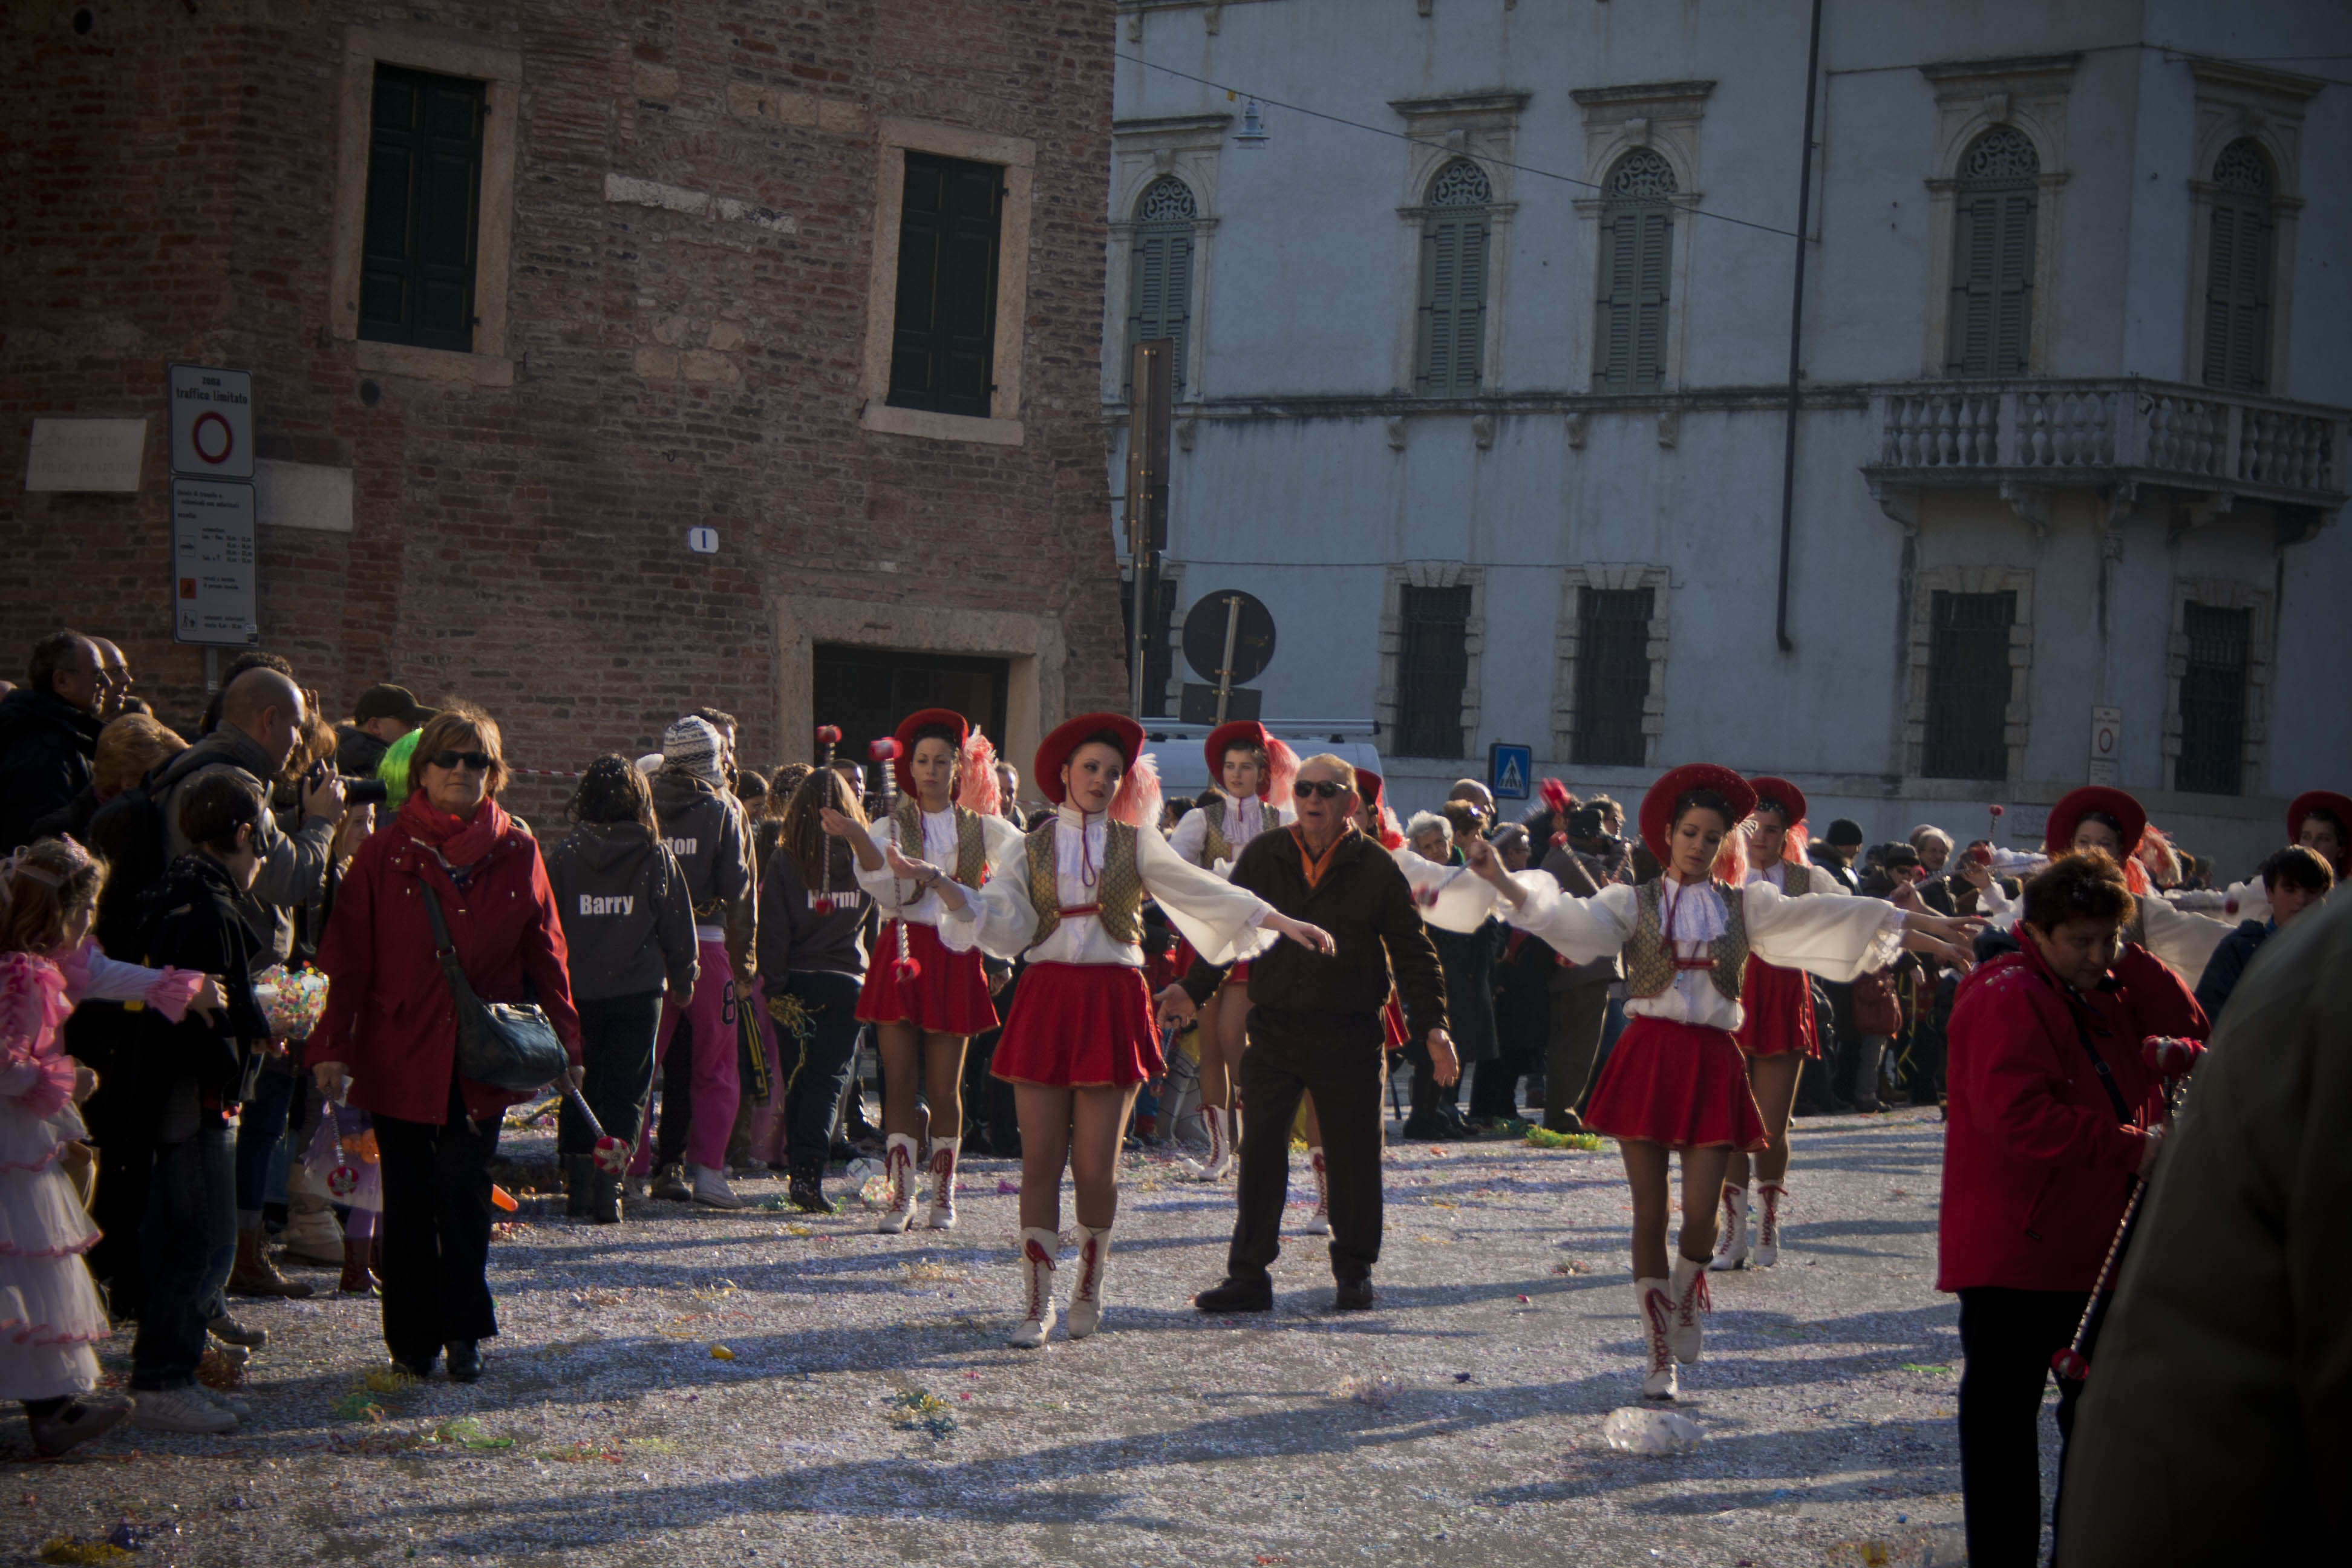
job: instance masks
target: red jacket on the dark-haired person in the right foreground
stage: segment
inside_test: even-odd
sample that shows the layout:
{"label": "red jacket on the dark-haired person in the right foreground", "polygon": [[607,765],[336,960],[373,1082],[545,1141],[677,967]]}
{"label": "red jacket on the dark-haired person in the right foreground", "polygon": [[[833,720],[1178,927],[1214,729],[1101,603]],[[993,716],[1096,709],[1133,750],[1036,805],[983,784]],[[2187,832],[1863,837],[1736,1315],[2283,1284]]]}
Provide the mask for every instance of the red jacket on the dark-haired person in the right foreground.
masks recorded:
{"label": "red jacket on the dark-haired person in the right foreground", "polygon": [[2077,1006],[2129,1121],[2117,1121],[2065,987],[2032,943],[1980,966],[1952,1001],[1938,1291],[2098,1284],[2145,1128],[2164,1112],[2140,1041],[2201,1039],[2204,1013],[2180,978],[2138,947],[2117,959],[2110,990]]}

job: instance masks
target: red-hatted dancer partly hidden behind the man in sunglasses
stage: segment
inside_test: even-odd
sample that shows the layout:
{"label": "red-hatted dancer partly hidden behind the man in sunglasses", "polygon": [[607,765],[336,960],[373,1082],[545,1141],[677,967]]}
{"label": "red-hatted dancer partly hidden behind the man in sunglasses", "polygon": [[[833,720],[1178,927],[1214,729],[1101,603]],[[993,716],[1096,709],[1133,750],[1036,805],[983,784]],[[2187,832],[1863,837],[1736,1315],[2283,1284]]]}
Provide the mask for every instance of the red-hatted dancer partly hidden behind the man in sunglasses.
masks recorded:
{"label": "red-hatted dancer partly hidden behind the man in sunglasses", "polygon": [[[1183,813],[1169,849],[1211,870],[1232,875],[1242,846],[1268,827],[1298,820],[1291,809],[1291,780],[1298,776],[1298,752],[1265,733],[1254,719],[1218,724],[1202,743],[1209,762],[1209,790]],[[1192,952],[1176,947],[1176,973],[1190,973]],[[1232,1175],[1232,1152],[1242,1143],[1235,1126],[1232,1077],[1242,1070],[1242,1046],[1249,1039],[1249,964],[1235,964],[1225,985],[1195,1013],[1200,1039],[1200,1119],[1209,1128],[1209,1157],[1192,1164],[1192,1178],[1204,1182]]]}

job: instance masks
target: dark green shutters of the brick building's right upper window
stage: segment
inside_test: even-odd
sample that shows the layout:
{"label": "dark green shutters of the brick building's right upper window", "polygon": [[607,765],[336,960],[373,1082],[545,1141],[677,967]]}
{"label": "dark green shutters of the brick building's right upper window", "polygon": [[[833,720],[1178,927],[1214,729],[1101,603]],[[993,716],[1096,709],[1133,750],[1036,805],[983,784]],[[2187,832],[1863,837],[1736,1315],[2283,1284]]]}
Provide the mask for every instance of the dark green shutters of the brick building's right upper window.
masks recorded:
{"label": "dark green shutters of the brick building's right upper window", "polygon": [[906,155],[889,404],[988,418],[1004,169]]}

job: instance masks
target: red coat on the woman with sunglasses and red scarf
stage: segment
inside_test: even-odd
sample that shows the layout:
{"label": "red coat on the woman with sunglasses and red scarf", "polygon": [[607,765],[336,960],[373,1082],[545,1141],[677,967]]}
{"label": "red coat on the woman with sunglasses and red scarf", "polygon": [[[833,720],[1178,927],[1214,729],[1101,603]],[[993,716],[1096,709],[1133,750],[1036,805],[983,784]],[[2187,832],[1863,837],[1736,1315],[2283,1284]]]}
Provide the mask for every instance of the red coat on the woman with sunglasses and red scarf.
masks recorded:
{"label": "red coat on the woman with sunglasses and red scarf", "polygon": [[[447,1119],[456,1072],[456,1006],[433,957],[421,882],[440,898],[473,992],[482,1001],[524,1001],[522,980],[529,976],[564,1051],[581,1060],[564,929],[539,844],[513,825],[499,802],[482,802],[470,832],[487,837],[489,846],[461,893],[433,851],[433,844],[449,846],[454,827],[454,818],[412,795],[390,823],[360,844],[318,945],[318,966],[329,983],[327,1013],[310,1032],[303,1060],[343,1063],[355,1107],[405,1121]],[[494,1117],[529,1098],[470,1079],[463,1091],[470,1117]]]}

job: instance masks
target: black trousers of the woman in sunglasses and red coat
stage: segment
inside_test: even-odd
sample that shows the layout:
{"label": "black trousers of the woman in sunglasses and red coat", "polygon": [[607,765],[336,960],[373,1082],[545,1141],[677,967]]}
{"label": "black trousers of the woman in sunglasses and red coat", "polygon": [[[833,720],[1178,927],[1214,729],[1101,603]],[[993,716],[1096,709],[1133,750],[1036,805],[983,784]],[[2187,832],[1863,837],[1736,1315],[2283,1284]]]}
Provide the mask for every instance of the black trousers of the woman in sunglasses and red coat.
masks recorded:
{"label": "black trousers of the woman in sunglasses and red coat", "polygon": [[395,1361],[430,1366],[442,1345],[499,1333],[489,1305],[489,1157],[499,1119],[466,1121],[449,1084],[449,1114],[402,1121],[376,1112],[383,1161],[383,1345]]}

